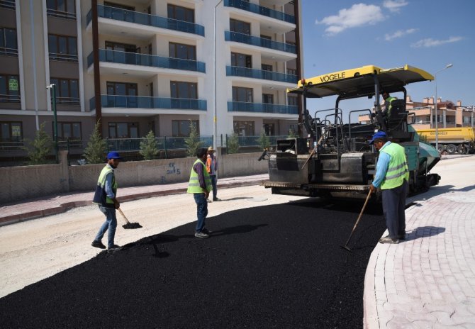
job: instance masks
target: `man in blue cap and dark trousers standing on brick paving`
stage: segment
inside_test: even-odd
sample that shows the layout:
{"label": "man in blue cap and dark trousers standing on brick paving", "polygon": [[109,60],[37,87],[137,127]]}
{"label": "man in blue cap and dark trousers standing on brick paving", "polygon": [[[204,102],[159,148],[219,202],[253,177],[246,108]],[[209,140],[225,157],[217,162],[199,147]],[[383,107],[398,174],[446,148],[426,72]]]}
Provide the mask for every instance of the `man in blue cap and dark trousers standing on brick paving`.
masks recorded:
{"label": "man in blue cap and dark trousers standing on brick paving", "polygon": [[399,243],[406,239],[406,196],[408,194],[409,169],[404,147],[391,143],[384,131],[373,135],[369,144],[379,150],[376,174],[370,186],[371,193],[381,188],[383,213],[389,235],[379,239],[381,243]]}

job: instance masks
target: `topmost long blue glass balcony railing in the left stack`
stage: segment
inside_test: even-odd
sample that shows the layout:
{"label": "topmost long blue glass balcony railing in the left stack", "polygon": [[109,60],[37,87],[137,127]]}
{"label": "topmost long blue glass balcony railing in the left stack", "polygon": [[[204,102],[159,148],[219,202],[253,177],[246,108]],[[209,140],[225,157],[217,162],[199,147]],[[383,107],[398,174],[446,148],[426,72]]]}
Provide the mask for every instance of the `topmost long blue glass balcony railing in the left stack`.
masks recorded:
{"label": "topmost long blue glass balcony railing in the left stack", "polygon": [[[154,26],[155,28],[166,28],[167,30],[178,30],[204,36],[204,26],[185,21],[178,21],[177,19],[150,15],[148,13],[139,13],[138,11],[128,11],[98,4],[97,15],[101,18],[109,18],[116,21],[137,23],[146,26]],[[89,24],[91,19],[92,13],[89,11],[86,16],[87,24]]]}

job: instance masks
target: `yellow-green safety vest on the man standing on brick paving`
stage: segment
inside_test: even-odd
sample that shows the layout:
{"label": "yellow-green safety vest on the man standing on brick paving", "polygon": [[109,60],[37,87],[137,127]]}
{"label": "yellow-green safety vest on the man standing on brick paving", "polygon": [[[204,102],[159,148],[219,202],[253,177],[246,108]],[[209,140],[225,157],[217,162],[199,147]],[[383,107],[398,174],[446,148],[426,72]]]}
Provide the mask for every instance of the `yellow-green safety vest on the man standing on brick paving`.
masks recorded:
{"label": "yellow-green safety vest on the man standing on brick paving", "polygon": [[396,143],[391,143],[380,151],[391,156],[388,171],[386,172],[386,177],[384,177],[383,184],[381,184],[381,189],[394,189],[395,187],[401,186],[404,179],[409,181],[408,162],[406,161],[404,147]]}

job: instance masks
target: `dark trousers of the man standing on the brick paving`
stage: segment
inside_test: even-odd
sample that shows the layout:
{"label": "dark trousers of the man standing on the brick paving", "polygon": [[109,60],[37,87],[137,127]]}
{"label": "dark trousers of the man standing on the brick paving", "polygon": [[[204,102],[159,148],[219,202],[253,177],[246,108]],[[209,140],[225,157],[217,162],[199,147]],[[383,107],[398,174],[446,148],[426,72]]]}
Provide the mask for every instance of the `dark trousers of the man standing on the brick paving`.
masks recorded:
{"label": "dark trousers of the man standing on the brick paving", "polygon": [[393,239],[406,233],[406,196],[409,184],[407,181],[394,189],[383,189],[383,213],[386,228]]}

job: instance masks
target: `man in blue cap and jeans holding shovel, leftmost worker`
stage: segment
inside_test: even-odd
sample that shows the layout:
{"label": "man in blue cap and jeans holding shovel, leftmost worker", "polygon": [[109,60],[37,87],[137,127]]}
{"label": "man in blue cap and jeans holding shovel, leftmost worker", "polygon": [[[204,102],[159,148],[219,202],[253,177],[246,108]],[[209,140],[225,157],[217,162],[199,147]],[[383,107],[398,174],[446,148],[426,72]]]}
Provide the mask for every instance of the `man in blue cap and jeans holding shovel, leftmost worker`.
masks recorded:
{"label": "man in blue cap and jeans holding shovel, leftmost worker", "polygon": [[107,165],[99,174],[97,181],[96,192],[92,202],[99,204],[99,210],[106,215],[106,221],[99,228],[99,232],[92,241],[91,245],[96,248],[106,249],[106,246],[101,242],[104,234],[107,234],[107,250],[113,252],[120,247],[114,244],[114,236],[116,235],[117,218],[116,209],[121,206],[116,198],[117,182],[114,176],[114,169],[117,168],[122,157],[118,152],[109,152],[107,155]]}

